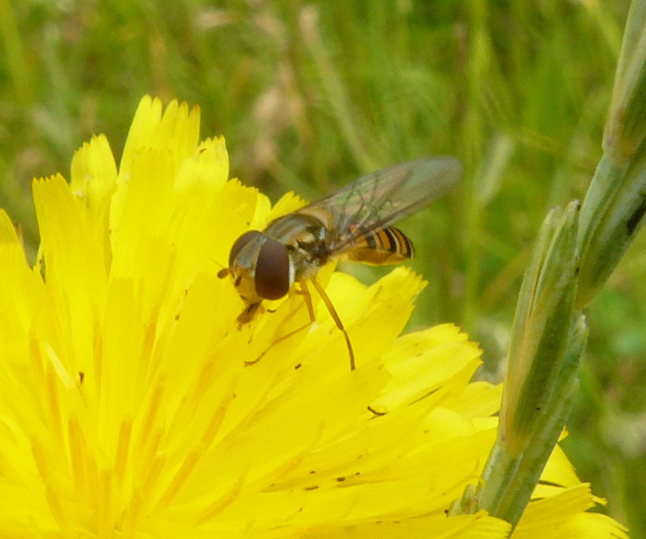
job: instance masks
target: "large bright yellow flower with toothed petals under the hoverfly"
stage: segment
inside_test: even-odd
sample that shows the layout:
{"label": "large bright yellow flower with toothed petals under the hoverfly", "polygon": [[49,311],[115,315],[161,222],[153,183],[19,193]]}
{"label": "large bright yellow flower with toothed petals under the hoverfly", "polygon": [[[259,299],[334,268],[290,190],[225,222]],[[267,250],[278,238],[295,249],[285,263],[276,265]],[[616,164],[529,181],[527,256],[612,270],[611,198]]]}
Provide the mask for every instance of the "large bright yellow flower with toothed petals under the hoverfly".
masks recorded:
{"label": "large bright yellow flower with toothed petals under the hoverfly", "polygon": [[[220,265],[300,202],[272,210],[198,134],[197,109],[146,97],[118,168],[99,136],[69,184],[34,181],[33,268],[0,212],[0,536],[506,537],[485,513],[446,517],[495,437],[500,387],[468,383],[478,347],[449,324],[398,337],[424,286],[403,267],[371,287],[320,275],[356,371],[323,304],[277,342],[307,322],[298,294],[238,327]],[[563,488],[514,537],[621,536],[584,513],[561,453],[545,473]]]}

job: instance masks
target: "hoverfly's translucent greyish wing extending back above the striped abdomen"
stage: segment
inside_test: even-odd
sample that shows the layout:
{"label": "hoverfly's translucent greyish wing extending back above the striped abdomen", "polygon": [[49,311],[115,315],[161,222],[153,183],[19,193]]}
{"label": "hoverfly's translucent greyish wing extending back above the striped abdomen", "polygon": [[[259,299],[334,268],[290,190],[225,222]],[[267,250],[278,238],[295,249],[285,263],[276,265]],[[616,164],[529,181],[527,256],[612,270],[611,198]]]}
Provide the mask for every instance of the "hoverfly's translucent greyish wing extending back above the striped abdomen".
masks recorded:
{"label": "hoverfly's translucent greyish wing extending back above the striped abdomen", "polygon": [[354,238],[423,209],[458,183],[462,165],[453,157],[419,159],[362,176],[294,213],[328,218],[329,252],[341,254]]}

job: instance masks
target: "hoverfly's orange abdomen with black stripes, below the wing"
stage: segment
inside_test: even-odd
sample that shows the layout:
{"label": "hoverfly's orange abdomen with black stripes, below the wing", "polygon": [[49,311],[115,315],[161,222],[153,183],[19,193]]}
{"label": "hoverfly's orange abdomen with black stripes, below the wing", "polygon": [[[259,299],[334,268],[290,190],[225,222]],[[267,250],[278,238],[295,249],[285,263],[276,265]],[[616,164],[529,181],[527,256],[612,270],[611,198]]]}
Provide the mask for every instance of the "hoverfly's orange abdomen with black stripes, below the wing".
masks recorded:
{"label": "hoverfly's orange abdomen with black stripes, below the wing", "polygon": [[344,253],[364,264],[396,264],[415,255],[413,243],[396,227],[382,227],[357,238],[355,247]]}

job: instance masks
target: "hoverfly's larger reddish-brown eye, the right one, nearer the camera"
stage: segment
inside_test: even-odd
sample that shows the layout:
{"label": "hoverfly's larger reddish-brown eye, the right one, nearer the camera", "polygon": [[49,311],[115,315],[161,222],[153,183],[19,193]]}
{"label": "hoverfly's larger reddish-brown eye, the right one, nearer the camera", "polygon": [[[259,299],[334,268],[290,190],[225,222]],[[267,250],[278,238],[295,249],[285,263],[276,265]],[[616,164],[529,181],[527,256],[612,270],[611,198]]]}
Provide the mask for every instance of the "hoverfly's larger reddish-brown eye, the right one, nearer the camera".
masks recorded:
{"label": "hoverfly's larger reddish-brown eye, the right one, nearer the camera", "polygon": [[287,248],[267,238],[256,262],[256,293],[263,299],[278,299],[289,292],[289,255]]}

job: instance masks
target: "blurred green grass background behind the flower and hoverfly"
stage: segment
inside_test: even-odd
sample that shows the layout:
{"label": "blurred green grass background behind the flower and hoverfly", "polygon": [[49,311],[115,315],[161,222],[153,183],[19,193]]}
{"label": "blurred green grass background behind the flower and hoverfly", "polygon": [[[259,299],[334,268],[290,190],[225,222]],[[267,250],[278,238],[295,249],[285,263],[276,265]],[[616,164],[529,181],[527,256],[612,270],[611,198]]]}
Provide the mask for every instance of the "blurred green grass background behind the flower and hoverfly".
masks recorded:
{"label": "blurred green grass background behind the flower and hoverfly", "polygon": [[[600,158],[628,2],[0,0],[0,205],[38,242],[30,184],[144,93],[202,109],[231,173],[277,200],[451,153],[461,188],[402,225],[429,279],[412,327],[454,321],[499,376],[533,237]],[[646,538],[646,239],[588,309],[564,445]],[[369,270],[352,267],[361,278]]]}

